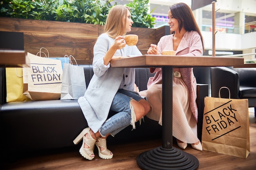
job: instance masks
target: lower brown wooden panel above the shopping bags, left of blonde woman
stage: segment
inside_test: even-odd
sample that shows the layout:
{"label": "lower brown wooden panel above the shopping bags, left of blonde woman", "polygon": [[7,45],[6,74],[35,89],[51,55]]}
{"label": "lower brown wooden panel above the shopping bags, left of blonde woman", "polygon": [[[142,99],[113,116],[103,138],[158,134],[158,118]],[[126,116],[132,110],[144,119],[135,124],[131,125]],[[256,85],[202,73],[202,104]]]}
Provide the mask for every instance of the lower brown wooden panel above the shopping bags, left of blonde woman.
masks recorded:
{"label": "lower brown wooden panel above the shopping bags, left of blonde woman", "polygon": [[73,55],[79,64],[92,64],[93,46],[97,37],[63,34],[24,33],[25,52],[35,54],[41,47],[50,57]]}

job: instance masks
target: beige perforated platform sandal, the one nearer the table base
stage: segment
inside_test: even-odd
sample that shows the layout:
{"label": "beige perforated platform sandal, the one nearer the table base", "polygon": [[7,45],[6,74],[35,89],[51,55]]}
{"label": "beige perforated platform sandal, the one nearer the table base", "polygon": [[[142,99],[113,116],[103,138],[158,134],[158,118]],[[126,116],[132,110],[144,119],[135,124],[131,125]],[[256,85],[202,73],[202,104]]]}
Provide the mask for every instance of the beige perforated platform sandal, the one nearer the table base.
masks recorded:
{"label": "beige perforated platform sandal, the one nearer the table base", "polygon": [[[101,159],[111,159],[113,157],[113,153],[107,149],[106,139],[102,139],[99,137],[98,141],[95,142],[95,145],[97,146],[97,148],[99,150],[99,157]],[[104,148],[104,150],[101,151],[100,147]]]}

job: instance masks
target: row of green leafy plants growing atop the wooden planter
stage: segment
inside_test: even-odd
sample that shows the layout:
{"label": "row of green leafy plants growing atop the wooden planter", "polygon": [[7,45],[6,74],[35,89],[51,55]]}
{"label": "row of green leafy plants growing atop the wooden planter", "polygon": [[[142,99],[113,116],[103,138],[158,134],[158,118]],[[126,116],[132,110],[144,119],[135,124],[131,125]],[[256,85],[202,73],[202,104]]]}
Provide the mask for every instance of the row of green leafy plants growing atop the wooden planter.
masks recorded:
{"label": "row of green leafy plants growing atop the wooden planter", "polygon": [[[104,25],[113,0],[0,0],[0,16]],[[116,5],[115,2],[114,5]],[[134,0],[131,9],[135,27],[153,27],[148,0]]]}

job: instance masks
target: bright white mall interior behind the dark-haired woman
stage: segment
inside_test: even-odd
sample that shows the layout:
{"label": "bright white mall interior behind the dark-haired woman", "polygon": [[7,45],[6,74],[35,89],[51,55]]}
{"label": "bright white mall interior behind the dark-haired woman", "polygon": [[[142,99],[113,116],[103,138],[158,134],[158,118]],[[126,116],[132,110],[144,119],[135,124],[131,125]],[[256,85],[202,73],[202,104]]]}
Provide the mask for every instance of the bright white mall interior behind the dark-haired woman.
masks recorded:
{"label": "bright white mall interior behind the dark-haired woman", "polygon": [[[127,4],[132,0],[114,0]],[[168,25],[169,6],[184,2],[191,7],[191,0],[149,0],[155,27]],[[217,0],[215,3],[216,56],[256,53],[256,0]],[[202,31],[205,44],[204,55],[212,55],[212,4],[193,10],[194,17]],[[246,61],[256,55],[244,55]],[[255,62],[255,61],[254,61]]]}

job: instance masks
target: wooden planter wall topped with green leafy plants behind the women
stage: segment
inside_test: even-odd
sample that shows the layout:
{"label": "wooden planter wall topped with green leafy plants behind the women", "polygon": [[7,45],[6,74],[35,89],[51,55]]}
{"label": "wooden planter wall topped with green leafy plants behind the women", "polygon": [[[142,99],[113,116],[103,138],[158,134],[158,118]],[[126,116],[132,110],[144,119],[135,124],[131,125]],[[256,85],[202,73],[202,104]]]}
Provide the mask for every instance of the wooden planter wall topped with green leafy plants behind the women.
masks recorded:
{"label": "wooden planter wall topped with green leafy plants behind the women", "polygon": [[[93,46],[102,33],[113,0],[2,0],[0,31],[24,33],[24,50],[36,54],[47,48],[51,57],[65,54],[78,64],[92,64]],[[134,21],[131,34],[139,36],[138,49],[146,54],[157,43],[162,29],[151,29],[155,18],[148,13],[148,0],[126,4]],[[157,33],[158,32],[158,33]]]}

